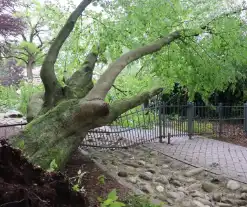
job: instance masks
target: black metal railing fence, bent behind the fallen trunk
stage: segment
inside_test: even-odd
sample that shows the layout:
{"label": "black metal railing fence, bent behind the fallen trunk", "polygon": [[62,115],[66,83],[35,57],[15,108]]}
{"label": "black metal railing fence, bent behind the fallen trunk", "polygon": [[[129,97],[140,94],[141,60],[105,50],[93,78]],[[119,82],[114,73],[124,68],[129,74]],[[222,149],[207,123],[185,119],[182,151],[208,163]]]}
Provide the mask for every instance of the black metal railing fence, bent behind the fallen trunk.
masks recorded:
{"label": "black metal railing fence, bent behind the fallen trunk", "polygon": [[[25,125],[0,124],[0,138],[18,133]],[[124,148],[147,142],[170,143],[172,137],[192,138],[204,135],[213,138],[246,139],[247,104],[243,106],[194,106],[152,104],[130,110],[113,123],[88,132],[82,146]]]}

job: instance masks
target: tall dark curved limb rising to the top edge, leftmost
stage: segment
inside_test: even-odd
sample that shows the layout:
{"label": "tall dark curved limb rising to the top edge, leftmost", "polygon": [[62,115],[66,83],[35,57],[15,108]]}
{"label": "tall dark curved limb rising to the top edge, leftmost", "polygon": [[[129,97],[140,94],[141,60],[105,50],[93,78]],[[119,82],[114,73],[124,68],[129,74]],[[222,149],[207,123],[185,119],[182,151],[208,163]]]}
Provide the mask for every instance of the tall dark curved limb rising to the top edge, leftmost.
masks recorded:
{"label": "tall dark curved limb rising to the top edge, leftmost", "polygon": [[58,83],[57,77],[54,71],[54,64],[57,60],[58,53],[60,48],[62,47],[63,43],[71,33],[74,28],[74,25],[81,15],[81,13],[85,10],[85,8],[91,3],[92,0],[84,0],[82,1],[78,7],[71,13],[67,22],[60,30],[59,34],[55,38],[54,42],[52,43],[45,60],[42,64],[40,77],[45,87],[45,102],[44,106],[50,108],[54,104],[54,95],[55,91],[58,88],[61,88],[60,84]]}

